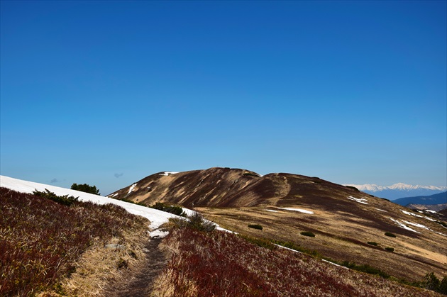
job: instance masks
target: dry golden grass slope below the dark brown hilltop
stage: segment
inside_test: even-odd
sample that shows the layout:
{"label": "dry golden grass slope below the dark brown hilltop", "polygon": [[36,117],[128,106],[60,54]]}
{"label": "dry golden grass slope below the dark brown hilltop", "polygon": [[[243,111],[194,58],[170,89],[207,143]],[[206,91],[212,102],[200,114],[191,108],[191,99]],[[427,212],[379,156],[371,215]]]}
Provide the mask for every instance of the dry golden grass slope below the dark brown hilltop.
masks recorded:
{"label": "dry golden grass slope below the dark brown hilltop", "polygon": [[[270,210],[277,212],[266,211],[266,207],[198,208],[198,210],[228,230],[252,237],[294,242],[307,250],[316,250],[322,256],[339,262],[369,264],[397,279],[421,281],[430,271],[434,271],[440,279],[447,275],[447,237],[434,232],[447,233],[447,230],[443,230],[437,223],[420,218],[419,220],[407,218],[409,215],[403,214],[404,219],[423,223],[434,230],[419,230],[421,233],[418,234],[403,229],[401,232],[401,228],[394,226],[392,220],[387,218],[387,213],[380,211],[373,213],[368,219],[368,215],[366,218],[360,218],[348,211],[346,213],[324,211],[316,205],[314,208],[304,205],[294,208],[304,208],[314,211],[314,214],[272,207]],[[384,214],[385,218],[380,218]],[[385,236],[383,222],[387,223],[387,220],[390,221],[390,228],[397,237]],[[262,225],[263,230],[248,228],[250,224]],[[316,237],[303,236],[300,234],[302,231],[314,232]],[[368,245],[367,242],[377,242],[378,246]],[[394,252],[387,252],[385,247],[393,247]]]}

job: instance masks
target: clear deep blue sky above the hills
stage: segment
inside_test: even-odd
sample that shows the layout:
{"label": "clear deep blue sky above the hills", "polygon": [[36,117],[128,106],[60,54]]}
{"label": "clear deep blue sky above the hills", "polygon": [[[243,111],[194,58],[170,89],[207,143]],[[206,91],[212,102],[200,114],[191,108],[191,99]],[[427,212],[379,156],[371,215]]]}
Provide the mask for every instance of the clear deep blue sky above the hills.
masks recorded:
{"label": "clear deep blue sky above the hills", "polygon": [[447,184],[446,1],[1,1],[2,175]]}

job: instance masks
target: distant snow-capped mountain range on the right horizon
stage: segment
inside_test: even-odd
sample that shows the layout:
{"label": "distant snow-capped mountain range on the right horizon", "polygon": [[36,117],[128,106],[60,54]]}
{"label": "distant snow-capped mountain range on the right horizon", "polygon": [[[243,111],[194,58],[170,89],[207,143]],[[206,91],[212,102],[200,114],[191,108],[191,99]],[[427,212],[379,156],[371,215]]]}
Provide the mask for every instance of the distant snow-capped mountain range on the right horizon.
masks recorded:
{"label": "distant snow-capped mountain range on the right horizon", "polygon": [[447,186],[414,186],[403,183],[391,186],[378,186],[377,184],[345,184],[344,186],[355,186],[360,191],[390,200],[409,196],[429,196],[447,191]]}

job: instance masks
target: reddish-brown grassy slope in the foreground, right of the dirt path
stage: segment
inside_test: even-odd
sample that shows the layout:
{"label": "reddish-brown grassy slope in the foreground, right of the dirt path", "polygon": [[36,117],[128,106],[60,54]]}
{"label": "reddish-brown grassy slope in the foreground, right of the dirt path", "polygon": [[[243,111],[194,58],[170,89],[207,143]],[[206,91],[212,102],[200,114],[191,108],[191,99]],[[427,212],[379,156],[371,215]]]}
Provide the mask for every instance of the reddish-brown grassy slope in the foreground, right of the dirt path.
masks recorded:
{"label": "reddish-brown grassy slope in the foreground, right of the dirt path", "polygon": [[154,296],[438,296],[228,232],[176,229]]}

